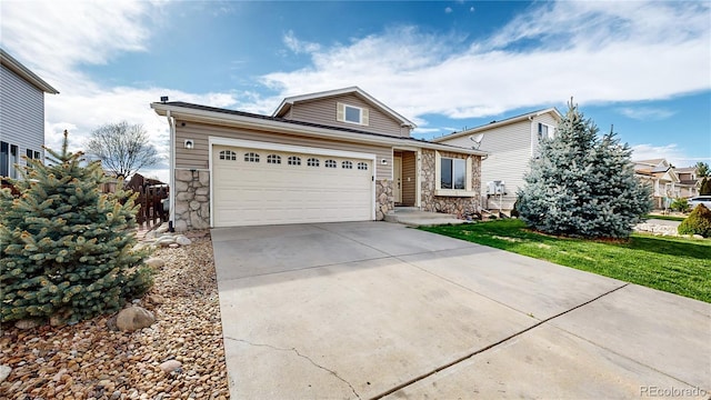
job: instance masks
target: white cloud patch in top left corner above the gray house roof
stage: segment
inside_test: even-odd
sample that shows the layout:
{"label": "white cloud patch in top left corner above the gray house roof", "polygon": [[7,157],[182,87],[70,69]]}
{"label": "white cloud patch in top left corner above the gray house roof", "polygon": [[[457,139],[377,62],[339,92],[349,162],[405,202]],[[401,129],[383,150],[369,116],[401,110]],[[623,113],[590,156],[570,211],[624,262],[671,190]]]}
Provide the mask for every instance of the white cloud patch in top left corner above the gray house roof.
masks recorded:
{"label": "white cloud patch in top left corner above the gray house roof", "polygon": [[71,79],[81,84],[77,66],[146,51],[150,33],[144,22],[157,8],[144,1],[3,1],[3,47],[29,60],[50,83]]}

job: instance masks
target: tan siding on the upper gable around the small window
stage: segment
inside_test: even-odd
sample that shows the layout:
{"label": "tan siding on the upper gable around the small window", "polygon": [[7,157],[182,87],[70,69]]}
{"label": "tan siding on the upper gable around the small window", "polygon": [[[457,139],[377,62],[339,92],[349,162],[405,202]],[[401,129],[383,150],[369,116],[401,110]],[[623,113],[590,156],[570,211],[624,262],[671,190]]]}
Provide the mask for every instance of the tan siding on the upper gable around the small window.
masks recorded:
{"label": "tan siding on the upper gable around the small window", "polygon": [[[370,119],[368,127],[339,122],[336,119],[336,104],[338,102],[368,109]],[[297,121],[358,129],[369,132],[391,134],[395,137],[410,136],[408,129],[400,128],[400,122],[398,120],[391,118],[387,113],[380,111],[372,104],[367,103],[354,94],[343,94],[326,99],[299,101],[291,107],[289,118]]]}

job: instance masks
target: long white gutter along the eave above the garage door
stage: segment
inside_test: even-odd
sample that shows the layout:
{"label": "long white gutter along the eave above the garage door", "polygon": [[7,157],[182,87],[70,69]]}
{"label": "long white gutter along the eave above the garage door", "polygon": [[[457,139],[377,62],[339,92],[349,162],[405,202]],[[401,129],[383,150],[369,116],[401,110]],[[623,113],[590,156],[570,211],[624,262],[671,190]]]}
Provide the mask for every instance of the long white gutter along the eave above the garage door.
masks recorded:
{"label": "long white gutter along the eave above the garage door", "polygon": [[332,139],[339,141],[351,141],[358,143],[369,143],[375,146],[411,146],[411,147],[420,147],[424,149],[431,150],[443,150],[443,151],[454,151],[465,154],[472,156],[485,156],[488,154],[485,151],[460,148],[455,146],[447,146],[432,143],[428,141],[415,141],[415,140],[405,140],[399,138],[387,138],[387,137],[371,137],[363,133],[357,132],[348,132],[341,130],[332,130],[328,128],[319,128],[319,127],[309,127],[309,126],[300,126],[289,122],[274,121],[270,119],[260,119],[254,117],[247,116],[237,116],[237,114],[226,114],[218,111],[208,111],[208,110],[196,110],[191,108],[184,108],[180,106],[171,106],[163,103],[151,103],[151,108],[156,110],[159,116],[177,116],[181,119],[186,119],[188,121],[193,122],[206,122],[221,126],[234,126],[240,128],[248,128],[254,130],[264,130],[264,128],[269,128],[271,132],[277,133],[287,133],[287,134],[308,134],[311,137]]}

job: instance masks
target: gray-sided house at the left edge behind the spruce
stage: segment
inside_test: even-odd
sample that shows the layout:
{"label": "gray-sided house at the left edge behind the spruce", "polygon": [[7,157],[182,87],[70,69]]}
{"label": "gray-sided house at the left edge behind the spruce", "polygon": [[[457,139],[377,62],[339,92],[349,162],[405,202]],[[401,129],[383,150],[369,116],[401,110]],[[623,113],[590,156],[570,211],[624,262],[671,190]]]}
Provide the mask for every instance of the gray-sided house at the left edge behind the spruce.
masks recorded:
{"label": "gray-sided house at the left edge behind the spruce", "polygon": [[0,49],[0,177],[19,178],[22,156],[44,159],[44,93],[59,92]]}

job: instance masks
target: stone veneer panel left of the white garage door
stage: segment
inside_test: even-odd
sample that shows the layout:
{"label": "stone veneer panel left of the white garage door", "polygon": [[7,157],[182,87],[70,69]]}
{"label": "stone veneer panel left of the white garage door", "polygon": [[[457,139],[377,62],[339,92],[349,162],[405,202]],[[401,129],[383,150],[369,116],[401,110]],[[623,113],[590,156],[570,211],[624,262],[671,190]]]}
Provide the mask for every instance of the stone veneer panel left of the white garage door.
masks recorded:
{"label": "stone veneer panel left of the white garage door", "polygon": [[176,170],[174,190],[176,231],[210,228],[210,172]]}

